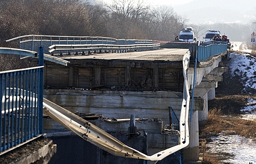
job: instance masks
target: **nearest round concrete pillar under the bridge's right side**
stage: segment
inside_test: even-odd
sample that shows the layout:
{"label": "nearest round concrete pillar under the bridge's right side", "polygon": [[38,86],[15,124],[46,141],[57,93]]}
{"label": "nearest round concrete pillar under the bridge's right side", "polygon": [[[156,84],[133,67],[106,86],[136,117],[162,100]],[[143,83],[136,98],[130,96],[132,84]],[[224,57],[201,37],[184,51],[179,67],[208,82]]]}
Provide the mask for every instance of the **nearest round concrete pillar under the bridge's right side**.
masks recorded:
{"label": "nearest round concrete pillar under the bridge's right side", "polygon": [[199,160],[199,127],[198,111],[193,113],[192,121],[189,124],[189,145],[184,149],[185,161]]}

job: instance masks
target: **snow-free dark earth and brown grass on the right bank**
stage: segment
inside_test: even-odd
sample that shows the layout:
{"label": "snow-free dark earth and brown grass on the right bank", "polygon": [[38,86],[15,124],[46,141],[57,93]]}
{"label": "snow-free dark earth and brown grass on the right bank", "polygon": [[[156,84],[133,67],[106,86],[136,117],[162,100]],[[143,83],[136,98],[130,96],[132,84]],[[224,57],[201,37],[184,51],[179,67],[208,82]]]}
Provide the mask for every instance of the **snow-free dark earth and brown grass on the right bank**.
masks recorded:
{"label": "snow-free dark earth and brown grass on the right bank", "polygon": [[[227,59],[224,60],[224,63]],[[217,136],[220,132],[226,134],[240,135],[246,138],[256,140],[256,123],[241,119],[240,112],[242,107],[248,103],[248,98],[256,99],[256,92],[245,94],[242,92],[241,79],[239,76],[232,77],[229,71],[223,74],[223,82],[218,82],[216,88],[216,98],[208,101],[209,119],[200,125],[200,154],[204,159],[202,164],[223,164],[220,160],[225,156],[220,152],[212,152],[205,156],[204,152],[207,149],[205,145],[211,142],[209,137]],[[207,161],[208,159],[215,159]]]}

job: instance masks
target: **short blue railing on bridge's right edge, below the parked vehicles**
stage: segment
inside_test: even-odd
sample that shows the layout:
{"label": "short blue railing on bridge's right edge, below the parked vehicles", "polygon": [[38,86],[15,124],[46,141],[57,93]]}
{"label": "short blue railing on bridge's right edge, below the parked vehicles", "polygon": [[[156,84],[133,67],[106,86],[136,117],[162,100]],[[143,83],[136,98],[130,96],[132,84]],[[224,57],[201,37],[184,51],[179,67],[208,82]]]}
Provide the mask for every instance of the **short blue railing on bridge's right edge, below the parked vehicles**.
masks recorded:
{"label": "short blue railing on bridge's right edge, below the parked vehicles", "polygon": [[197,46],[197,60],[207,60],[210,56],[217,55],[227,51],[227,42],[222,41],[208,41],[198,42]]}

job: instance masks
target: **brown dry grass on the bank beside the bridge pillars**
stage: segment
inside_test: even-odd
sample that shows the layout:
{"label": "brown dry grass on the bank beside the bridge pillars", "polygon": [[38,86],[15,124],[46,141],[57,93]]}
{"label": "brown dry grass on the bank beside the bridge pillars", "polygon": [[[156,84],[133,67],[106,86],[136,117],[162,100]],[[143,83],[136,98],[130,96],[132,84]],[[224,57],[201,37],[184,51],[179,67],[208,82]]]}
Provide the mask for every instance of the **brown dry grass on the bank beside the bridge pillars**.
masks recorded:
{"label": "brown dry grass on the bank beside the bridge pillars", "polygon": [[[256,143],[256,120],[241,119],[240,116],[224,116],[220,109],[213,108],[209,110],[208,122],[200,128],[200,142],[202,153],[202,164],[223,164],[220,162],[217,154],[206,151],[207,139],[211,136],[217,136],[220,133],[227,135],[240,135],[245,138],[252,138]],[[247,142],[243,141],[242,142]]]}

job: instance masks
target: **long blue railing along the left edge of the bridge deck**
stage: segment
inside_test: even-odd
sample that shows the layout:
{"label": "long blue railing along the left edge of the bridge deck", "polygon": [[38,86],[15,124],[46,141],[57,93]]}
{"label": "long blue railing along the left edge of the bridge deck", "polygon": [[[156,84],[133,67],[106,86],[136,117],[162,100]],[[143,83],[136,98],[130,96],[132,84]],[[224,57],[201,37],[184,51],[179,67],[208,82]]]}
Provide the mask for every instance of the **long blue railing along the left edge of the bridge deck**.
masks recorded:
{"label": "long blue railing along the left edge of the bridge deck", "polygon": [[[44,46],[44,52],[49,52],[51,45],[87,45],[85,50],[89,45],[108,45],[113,46],[116,49],[117,45],[140,45],[138,50],[146,49],[142,45],[153,44],[152,40],[138,40],[138,39],[116,39],[112,37],[78,37],[78,36],[50,36],[50,35],[25,35],[20,37],[15,37],[6,40],[6,42],[18,40],[19,49],[34,51],[40,45]],[[158,45],[159,48],[160,44]],[[91,47],[91,51],[101,51],[105,49],[100,49],[99,47]],[[97,49],[96,49],[97,48]],[[104,48],[104,47],[102,47]],[[121,47],[123,48],[123,47]],[[115,49],[115,50],[116,50]],[[136,49],[136,48],[135,48]],[[118,49],[119,50],[119,49]],[[64,50],[63,50],[64,51]],[[120,52],[122,49],[120,49]],[[76,53],[78,50],[70,50],[71,53]],[[117,51],[119,52],[119,51]],[[49,52],[50,53],[50,52]],[[60,52],[59,52],[60,53]],[[68,53],[68,52],[67,52]]]}

